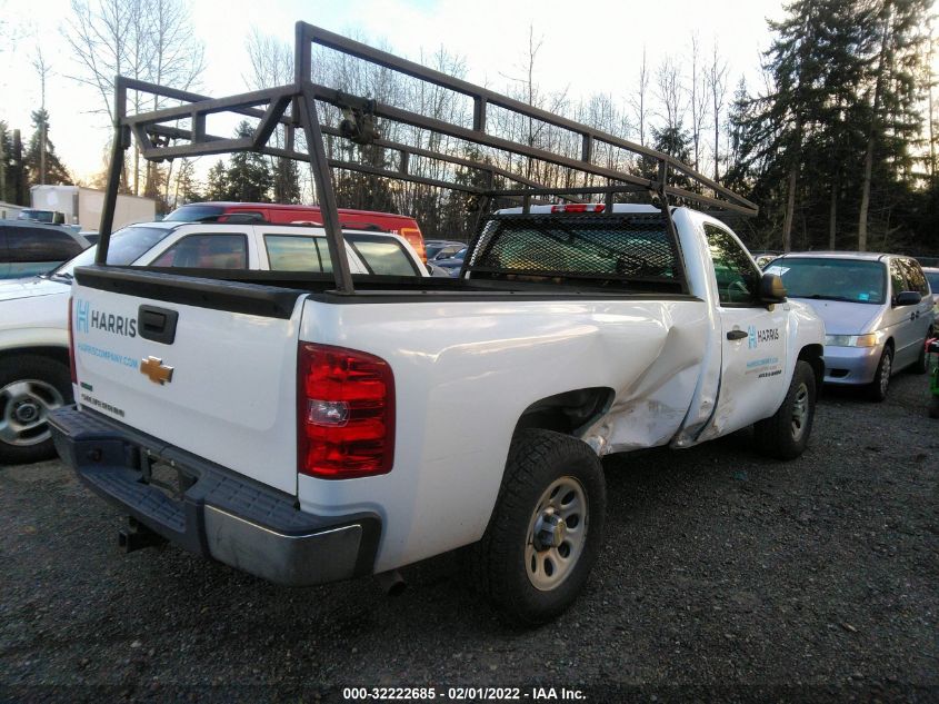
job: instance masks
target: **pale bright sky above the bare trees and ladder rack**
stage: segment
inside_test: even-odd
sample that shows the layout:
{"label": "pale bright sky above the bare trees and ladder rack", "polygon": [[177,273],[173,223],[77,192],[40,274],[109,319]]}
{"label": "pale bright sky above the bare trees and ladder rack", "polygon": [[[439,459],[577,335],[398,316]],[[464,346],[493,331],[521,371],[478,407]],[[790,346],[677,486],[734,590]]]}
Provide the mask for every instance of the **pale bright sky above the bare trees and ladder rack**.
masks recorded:
{"label": "pale bright sky above the bare trees and ladder rack", "polygon": [[[90,0],[94,3],[98,0]],[[541,46],[535,81],[542,91],[567,91],[577,100],[603,92],[617,102],[635,93],[643,47],[655,68],[667,56],[690,56],[697,33],[703,50],[717,43],[728,62],[728,100],[741,76],[759,81],[760,53],[771,36],[767,19],[783,17],[768,0],[191,0],[194,31],[206,47],[200,92],[243,92],[244,49],[252,28],[291,47],[298,20],[340,34],[383,43],[411,60],[441,46],[463,59],[467,80],[502,91],[526,65],[529,28]],[[580,10],[580,8],[588,8]],[[31,132],[29,113],[40,106],[31,61],[41,42],[51,66],[47,85],[50,139],[72,175],[87,179],[103,168],[108,119],[96,115],[96,91],[70,76],[80,71],[62,39],[68,0],[0,0],[0,17],[14,39],[0,42],[0,120]]]}

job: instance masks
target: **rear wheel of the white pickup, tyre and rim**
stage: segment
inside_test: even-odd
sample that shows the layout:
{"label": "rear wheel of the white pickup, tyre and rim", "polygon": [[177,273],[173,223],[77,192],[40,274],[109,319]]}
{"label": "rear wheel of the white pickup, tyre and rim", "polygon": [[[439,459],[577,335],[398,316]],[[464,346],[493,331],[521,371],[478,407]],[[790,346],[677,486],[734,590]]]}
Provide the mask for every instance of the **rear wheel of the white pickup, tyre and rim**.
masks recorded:
{"label": "rear wheel of the white pickup, tyre and rim", "polygon": [[577,598],[603,538],[607,488],[590,447],[551,430],[512,439],[499,498],[472,569],[510,622],[537,625]]}

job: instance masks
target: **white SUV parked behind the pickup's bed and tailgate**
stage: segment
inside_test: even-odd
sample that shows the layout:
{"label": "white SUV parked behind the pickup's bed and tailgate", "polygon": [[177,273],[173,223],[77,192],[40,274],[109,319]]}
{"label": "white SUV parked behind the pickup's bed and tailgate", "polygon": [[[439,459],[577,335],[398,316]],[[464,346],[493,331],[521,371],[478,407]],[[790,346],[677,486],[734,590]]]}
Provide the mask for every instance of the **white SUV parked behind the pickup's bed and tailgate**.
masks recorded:
{"label": "white SUV parked behind the pickup's bed and tailgate", "polygon": [[[428,276],[398,235],[346,234],[353,274]],[[0,282],[0,463],[53,454],[46,417],[71,403],[68,301],[72,271],[91,247],[46,276]],[[108,264],[331,271],[322,228],[150,222],[114,232]]]}

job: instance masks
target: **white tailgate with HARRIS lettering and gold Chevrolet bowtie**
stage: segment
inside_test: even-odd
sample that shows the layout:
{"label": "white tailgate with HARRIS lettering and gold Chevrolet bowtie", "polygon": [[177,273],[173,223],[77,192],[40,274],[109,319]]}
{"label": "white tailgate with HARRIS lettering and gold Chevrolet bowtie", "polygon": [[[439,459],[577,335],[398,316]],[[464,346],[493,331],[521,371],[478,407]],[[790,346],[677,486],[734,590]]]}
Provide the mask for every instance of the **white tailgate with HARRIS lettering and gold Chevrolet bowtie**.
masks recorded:
{"label": "white tailgate with HARRIS lettering and gold Chevrolet bowtie", "polygon": [[282,492],[297,490],[299,290],[76,271],[76,399]]}

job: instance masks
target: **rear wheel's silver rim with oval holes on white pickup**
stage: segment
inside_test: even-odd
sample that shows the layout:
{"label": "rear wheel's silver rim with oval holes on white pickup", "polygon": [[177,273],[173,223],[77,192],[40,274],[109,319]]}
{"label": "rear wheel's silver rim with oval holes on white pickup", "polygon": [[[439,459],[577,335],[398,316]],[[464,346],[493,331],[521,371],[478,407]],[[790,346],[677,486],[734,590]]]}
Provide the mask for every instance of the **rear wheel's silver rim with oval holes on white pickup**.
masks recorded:
{"label": "rear wheel's silver rim with oval holes on white pickup", "polygon": [[573,477],[561,477],[541,494],[528,522],[526,574],[531,585],[550,592],[573,572],[588,528],[587,494]]}

